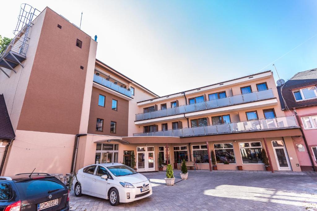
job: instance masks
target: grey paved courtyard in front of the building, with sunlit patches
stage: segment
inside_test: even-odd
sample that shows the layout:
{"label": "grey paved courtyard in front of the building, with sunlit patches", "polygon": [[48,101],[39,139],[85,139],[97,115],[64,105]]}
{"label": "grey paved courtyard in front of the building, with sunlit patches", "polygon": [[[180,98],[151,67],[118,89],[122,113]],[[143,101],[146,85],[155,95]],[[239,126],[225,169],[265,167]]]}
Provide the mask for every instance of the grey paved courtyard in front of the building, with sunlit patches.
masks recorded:
{"label": "grey paved courtyard in front of the building, with sunlit patches", "polygon": [[189,171],[166,186],[165,172],[144,173],[153,194],[112,207],[108,200],[70,196],[71,210],[317,210],[317,188],[312,174],[267,171]]}

